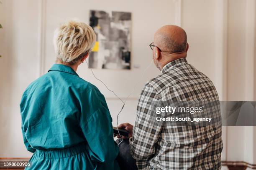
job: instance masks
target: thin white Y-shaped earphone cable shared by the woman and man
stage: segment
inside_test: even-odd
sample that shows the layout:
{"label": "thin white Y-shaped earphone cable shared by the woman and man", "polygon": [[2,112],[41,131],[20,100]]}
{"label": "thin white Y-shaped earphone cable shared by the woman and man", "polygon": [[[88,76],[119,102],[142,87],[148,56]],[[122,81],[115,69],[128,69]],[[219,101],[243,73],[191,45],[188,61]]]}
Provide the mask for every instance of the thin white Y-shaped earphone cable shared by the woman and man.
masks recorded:
{"label": "thin white Y-shaped earphone cable shared by the woman and man", "polygon": [[[97,80],[99,80],[100,82],[102,82],[103,85],[105,85],[105,83],[104,83],[102,80],[100,80],[99,78],[97,78],[97,77],[95,76],[95,74],[93,73],[92,68],[89,66],[87,60],[85,60],[85,62],[86,62],[86,64],[88,65],[88,68],[90,68],[90,70],[91,70],[91,72],[92,72],[92,75],[93,75]],[[130,97],[130,95],[134,92],[135,87],[138,85],[138,83],[141,82],[142,77],[144,76],[146,70],[148,70],[148,68],[151,66],[152,62],[153,62],[153,60],[152,60],[151,63],[148,65],[148,67],[146,67],[146,69],[143,71],[141,78],[140,78],[139,81],[134,85],[132,92],[126,97],[125,101],[123,101],[120,97],[118,97],[118,95],[115,94],[114,91],[110,90],[110,89],[108,88],[108,86],[105,85],[105,87],[106,87],[110,92],[113,92],[113,94],[123,103],[123,106],[122,106],[121,110],[118,112],[118,115],[117,115],[117,117],[116,117],[116,118],[117,118],[116,126],[118,126],[118,116],[119,116],[119,114],[122,112],[123,107],[125,106],[126,101],[127,101],[128,98]],[[116,129],[114,129],[114,127],[113,127],[113,130],[114,130],[114,133],[115,133],[115,130],[117,131],[118,134],[116,134],[116,135],[125,136],[125,135],[122,135],[122,134],[123,134],[123,130],[122,130],[121,128],[116,128]],[[126,131],[126,130],[125,130],[125,131]],[[121,134],[121,133],[122,133],[122,134]],[[128,135],[127,135],[127,136],[128,136]],[[122,140],[118,143],[118,146],[119,146],[122,142],[123,142],[123,138],[122,138]]]}

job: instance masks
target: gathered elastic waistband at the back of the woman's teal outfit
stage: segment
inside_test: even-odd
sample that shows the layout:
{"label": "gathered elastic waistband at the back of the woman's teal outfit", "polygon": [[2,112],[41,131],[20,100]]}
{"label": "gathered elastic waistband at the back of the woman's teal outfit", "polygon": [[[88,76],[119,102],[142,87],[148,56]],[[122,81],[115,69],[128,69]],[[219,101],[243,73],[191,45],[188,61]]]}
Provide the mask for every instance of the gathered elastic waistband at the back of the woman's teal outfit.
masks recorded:
{"label": "gathered elastic waistband at the back of the woman's teal outfit", "polygon": [[86,150],[86,143],[79,143],[69,148],[54,149],[54,150],[39,150],[37,149],[34,154],[44,158],[67,158],[77,155]]}

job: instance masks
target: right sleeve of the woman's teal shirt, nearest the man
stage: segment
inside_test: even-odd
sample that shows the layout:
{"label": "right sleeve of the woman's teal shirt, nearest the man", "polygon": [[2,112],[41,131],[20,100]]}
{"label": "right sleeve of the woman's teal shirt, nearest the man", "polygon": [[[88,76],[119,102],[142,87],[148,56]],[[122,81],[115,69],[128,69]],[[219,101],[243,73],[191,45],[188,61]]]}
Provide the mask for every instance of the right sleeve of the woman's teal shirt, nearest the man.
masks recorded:
{"label": "right sleeve of the woman's teal shirt, nearest the man", "polygon": [[118,146],[113,138],[112,117],[105,97],[96,87],[87,95],[89,99],[82,106],[80,126],[89,145],[90,157],[97,163],[114,163]]}

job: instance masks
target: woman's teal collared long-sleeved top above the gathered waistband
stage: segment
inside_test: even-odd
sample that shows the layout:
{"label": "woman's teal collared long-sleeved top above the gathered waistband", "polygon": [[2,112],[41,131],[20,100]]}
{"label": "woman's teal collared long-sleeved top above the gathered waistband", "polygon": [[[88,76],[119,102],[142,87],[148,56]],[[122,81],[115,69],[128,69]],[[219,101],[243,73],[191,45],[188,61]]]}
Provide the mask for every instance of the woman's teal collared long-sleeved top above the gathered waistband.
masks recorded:
{"label": "woman's teal collared long-sleeved top above the gathered waistband", "polygon": [[119,169],[115,160],[118,146],[105,97],[71,67],[54,64],[32,82],[23,93],[20,112],[28,151],[86,143],[88,165],[100,169],[106,164],[108,169]]}

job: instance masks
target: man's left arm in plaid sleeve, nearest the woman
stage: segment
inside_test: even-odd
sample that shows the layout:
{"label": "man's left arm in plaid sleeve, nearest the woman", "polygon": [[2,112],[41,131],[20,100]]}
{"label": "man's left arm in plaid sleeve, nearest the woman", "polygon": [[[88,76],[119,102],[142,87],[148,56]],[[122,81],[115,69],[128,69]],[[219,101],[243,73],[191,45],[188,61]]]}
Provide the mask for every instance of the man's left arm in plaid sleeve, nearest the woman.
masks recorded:
{"label": "man's left arm in plaid sleeve, nearest the woman", "polygon": [[138,169],[145,168],[156,153],[155,144],[161,133],[161,125],[155,121],[153,103],[158,100],[156,90],[146,84],[138,100],[136,123],[133,137],[130,138],[131,153],[136,159]]}

